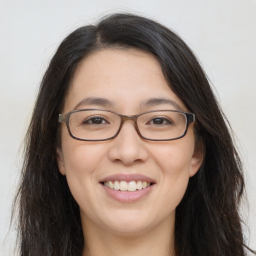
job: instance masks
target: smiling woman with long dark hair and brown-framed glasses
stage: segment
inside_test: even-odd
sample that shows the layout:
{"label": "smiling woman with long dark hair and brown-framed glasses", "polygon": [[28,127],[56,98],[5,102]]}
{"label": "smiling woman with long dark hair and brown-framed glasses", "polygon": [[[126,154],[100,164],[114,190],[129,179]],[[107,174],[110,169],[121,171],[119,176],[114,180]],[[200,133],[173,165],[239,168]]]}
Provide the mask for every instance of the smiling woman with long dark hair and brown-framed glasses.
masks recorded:
{"label": "smiling woman with long dark hair and brown-framed glasses", "polygon": [[26,143],[21,255],[246,254],[229,127],[166,27],[113,14],[69,34]]}

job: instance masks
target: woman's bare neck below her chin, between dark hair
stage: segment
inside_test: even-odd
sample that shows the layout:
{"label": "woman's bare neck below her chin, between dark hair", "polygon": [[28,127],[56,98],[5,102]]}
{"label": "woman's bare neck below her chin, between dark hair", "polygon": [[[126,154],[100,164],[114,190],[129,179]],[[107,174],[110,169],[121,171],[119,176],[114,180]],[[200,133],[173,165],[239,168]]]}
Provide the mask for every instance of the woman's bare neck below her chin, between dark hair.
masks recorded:
{"label": "woman's bare neck below her chin, between dark hair", "polygon": [[104,230],[91,223],[83,225],[83,256],[175,256],[174,223],[164,221],[151,230],[123,234]]}

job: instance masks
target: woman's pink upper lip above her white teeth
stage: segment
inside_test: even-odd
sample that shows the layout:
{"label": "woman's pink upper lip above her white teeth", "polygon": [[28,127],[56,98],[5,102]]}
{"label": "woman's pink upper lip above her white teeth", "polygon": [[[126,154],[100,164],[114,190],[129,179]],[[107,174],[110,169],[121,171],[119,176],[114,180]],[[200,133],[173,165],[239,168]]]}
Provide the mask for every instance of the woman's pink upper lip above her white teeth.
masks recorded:
{"label": "woman's pink upper lip above her white teeth", "polygon": [[117,174],[113,174],[113,175],[109,175],[106,176],[104,178],[102,178],[99,182],[103,182],[103,181],[109,181],[109,180],[118,180],[118,181],[146,181],[146,182],[150,182],[150,183],[155,183],[155,180],[143,175],[143,174],[139,174],[139,173],[131,173],[131,174],[123,174],[123,173],[117,173]]}

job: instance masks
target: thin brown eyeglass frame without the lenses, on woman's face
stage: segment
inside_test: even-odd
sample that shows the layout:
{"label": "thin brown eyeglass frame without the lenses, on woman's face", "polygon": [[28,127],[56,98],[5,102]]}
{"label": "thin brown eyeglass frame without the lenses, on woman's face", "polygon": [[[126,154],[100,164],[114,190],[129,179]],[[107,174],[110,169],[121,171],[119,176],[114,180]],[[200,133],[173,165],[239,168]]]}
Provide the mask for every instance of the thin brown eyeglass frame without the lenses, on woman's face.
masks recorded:
{"label": "thin brown eyeglass frame without the lenses, on woman's face", "polygon": [[[70,129],[70,125],[69,125],[69,118],[70,118],[70,115],[74,112],[79,112],[79,111],[84,111],[84,110],[100,110],[100,111],[108,111],[108,112],[112,112],[112,113],[115,113],[117,114],[119,117],[120,117],[120,125],[119,125],[119,128],[118,130],[116,131],[116,133],[109,137],[109,138],[103,138],[103,139],[86,139],[86,138],[78,138],[76,136],[74,136],[71,132],[71,129]],[[175,137],[175,138],[159,138],[159,139],[155,139],[155,138],[146,138],[144,136],[142,136],[142,134],[140,133],[139,131],[139,128],[137,126],[137,118],[138,116],[142,115],[142,114],[145,114],[145,113],[150,113],[150,112],[159,112],[159,111],[172,111],[172,112],[178,112],[178,113],[182,113],[185,115],[186,117],[186,125],[185,125],[185,129],[184,129],[184,132],[178,136],[178,137]],[[166,141],[166,140],[175,140],[175,139],[179,139],[179,138],[182,138],[185,136],[186,132],[187,132],[187,129],[188,129],[188,125],[192,122],[195,121],[195,115],[193,113],[189,113],[189,112],[185,112],[185,111],[181,111],[181,110],[171,110],[171,109],[163,109],[163,110],[149,110],[149,111],[145,111],[145,112],[142,112],[142,113],[138,113],[138,114],[134,114],[134,115],[125,115],[125,114],[119,114],[115,111],[112,111],[112,110],[108,110],[108,109],[102,109],[102,108],[84,108],[84,109],[75,109],[75,110],[72,110],[68,113],[65,113],[65,114],[59,114],[58,115],[58,122],[64,122],[66,124],[66,127],[67,127],[67,130],[68,130],[68,133],[69,135],[74,138],[74,139],[77,139],[77,140],[82,140],[82,141],[105,141],[105,140],[110,140],[110,139],[113,139],[115,138],[118,133],[120,132],[121,130],[121,127],[122,127],[122,124],[124,121],[133,121],[134,124],[135,124],[135,129],[138,133],[138,135],[143,138],[143,139],[146,139],[146,140],[151,140],[151,141]]]}

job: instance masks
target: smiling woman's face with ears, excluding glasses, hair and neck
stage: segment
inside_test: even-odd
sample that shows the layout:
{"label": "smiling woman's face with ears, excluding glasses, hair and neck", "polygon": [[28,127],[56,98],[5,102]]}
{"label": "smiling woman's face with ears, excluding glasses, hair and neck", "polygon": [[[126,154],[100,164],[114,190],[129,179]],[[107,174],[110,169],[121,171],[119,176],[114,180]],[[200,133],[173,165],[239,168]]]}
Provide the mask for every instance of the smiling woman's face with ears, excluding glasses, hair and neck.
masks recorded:
{"label": "smiling woman's face with ears, excluding glasses, hair and neck", "polygon": [[[159,100],[145,104],[152,98]],[[168,87],[156,58],[137,49],[101,50],[80,63],[62,113],[83,108],[125,115],[155,109],[188,111]],[[175,208],[202,161],[201,153],[194,152],[193,123],[184,137],[172,141],[142,139],[132,121],[125,121],[119,134],[107,141],[73,139],[64,123],[60,129],[58,166],[80,207],[83,228],[119,234],[173,228]],[[120,191],[104,186],[109,180],[151,185]]]}

